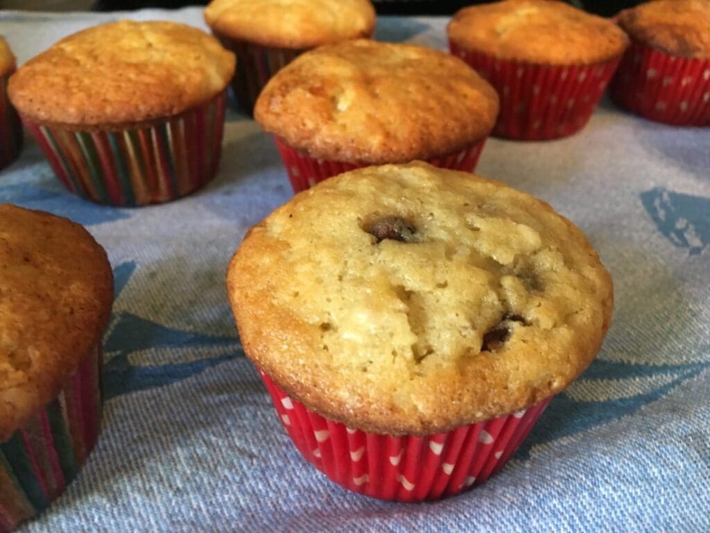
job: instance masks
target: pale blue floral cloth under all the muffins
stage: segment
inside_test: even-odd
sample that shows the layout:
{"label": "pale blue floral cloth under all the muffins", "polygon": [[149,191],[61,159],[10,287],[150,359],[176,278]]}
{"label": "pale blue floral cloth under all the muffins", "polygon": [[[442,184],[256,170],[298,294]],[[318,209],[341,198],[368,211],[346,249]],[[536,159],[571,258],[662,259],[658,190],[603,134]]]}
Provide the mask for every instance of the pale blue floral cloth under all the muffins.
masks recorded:
{"label": "pale blue floral cloth under all the muffins", "polygon": [[[0,12],[20,63],[119,17],[202,26],[198,9]],[[377,38],[445,47],[443,18],[382,18]],[[228,116],[219,176],[183,200],[119,209],[62,190],[38,147],[0,202],[86,225],[108,250],[104,430],[79,478],[23,532],[710,531],[710,129],[603,103],[559,141],[491,139],[479,173],[550,202],[613,274],[598,359],[501,473],[459,497],[396,505],[339,488],[298,455],[244,357],[224,273],[246,229],[288,200],[271,139]]]}

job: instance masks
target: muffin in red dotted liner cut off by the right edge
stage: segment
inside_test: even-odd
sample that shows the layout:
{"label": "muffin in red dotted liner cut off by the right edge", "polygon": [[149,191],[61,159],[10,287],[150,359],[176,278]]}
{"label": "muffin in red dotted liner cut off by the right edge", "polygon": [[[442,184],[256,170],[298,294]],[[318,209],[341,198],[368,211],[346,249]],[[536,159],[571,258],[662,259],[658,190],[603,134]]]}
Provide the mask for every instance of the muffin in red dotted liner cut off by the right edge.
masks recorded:
{"label": "muffin in red dotted liner cut off by the right edge", "polygon": [[657,122],[710,124],[710,1],[658,0],[616,19],[631,45],[611,84],[613,100]]}

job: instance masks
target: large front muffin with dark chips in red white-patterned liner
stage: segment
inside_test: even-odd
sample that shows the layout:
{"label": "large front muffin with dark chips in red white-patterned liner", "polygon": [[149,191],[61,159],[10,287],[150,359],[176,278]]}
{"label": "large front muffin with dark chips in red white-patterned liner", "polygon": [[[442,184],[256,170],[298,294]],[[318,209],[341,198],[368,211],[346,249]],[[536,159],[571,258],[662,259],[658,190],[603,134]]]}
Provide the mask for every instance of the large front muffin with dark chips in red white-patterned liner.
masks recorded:
{"label": "large front muffin with dark chips in red white-patterned liner", "polygon": [[418,162],[296,195],[249,231],[227,286],[297,448],[398,501],[501,468],[594,359],[613,306],[599,257],[550,205]]}

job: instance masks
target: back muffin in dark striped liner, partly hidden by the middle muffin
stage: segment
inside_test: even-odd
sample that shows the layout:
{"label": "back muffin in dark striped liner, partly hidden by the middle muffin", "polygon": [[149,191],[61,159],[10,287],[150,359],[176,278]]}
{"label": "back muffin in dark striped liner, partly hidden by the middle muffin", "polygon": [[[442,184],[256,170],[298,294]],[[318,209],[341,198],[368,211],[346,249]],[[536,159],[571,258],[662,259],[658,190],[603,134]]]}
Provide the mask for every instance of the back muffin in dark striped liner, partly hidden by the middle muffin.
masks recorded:
{"label": "back muffin in dark striped liner, partly hidden by the middle muffin", "polygon": [[232,89],[249,114],[269,78],[300,53],[375,31],[370,0],[212,0],[204,20],[239,59]]}

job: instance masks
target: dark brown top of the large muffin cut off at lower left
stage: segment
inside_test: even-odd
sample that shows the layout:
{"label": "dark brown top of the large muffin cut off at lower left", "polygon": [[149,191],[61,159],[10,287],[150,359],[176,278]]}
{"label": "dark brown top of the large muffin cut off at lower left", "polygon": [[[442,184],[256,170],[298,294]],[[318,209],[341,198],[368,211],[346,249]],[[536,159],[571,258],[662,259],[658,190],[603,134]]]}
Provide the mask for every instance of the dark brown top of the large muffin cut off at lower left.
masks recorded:
{"label": "dark brown top of the large muffin cut off at lower left", "polygon": [[111,265],[87,230],[0,205],[0,442],[98,345],[112,301]]}

